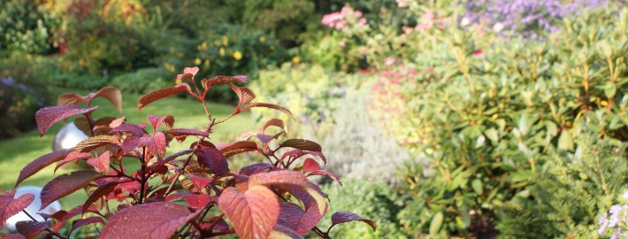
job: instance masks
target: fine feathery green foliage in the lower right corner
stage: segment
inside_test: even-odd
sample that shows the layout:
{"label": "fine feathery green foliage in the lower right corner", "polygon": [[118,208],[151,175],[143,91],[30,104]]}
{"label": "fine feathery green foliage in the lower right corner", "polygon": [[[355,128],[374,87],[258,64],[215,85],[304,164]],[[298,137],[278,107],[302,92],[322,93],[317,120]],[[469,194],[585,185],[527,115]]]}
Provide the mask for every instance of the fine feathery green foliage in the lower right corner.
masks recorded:
{"label": "fine feathery green foliage in the lower right corner", "polygon": [[596,238],[615,233],[617,219],[616,225],[600,221],[609,210],[617,211],[611,205],[625,200],[626,150],[595,138],[582,135],[576,153],[550,158],[533,187],[498,206],[502,236]]}

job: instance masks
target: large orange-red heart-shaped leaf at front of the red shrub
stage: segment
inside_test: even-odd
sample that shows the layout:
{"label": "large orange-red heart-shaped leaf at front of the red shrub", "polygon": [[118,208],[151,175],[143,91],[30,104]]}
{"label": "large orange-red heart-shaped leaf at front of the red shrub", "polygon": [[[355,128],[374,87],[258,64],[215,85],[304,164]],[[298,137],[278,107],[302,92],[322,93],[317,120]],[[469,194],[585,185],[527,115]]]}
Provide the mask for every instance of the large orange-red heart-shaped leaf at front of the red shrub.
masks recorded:
{"label": "large orange-red heart-shaped leaf at front of the red shrub", "polygon": [[264,186],[250,187],[244,194],[233,187],[226,188],[218,205],[241,238],[268,237],[280,215],[277,197]]}

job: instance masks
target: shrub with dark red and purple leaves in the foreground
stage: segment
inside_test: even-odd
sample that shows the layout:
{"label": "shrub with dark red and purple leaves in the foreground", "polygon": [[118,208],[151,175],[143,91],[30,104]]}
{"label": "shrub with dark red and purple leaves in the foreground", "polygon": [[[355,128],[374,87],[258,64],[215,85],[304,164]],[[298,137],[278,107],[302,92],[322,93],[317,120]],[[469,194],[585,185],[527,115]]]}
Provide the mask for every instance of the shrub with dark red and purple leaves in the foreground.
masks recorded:
{"label": "shrub with dark red and purple leaves in the foreground", "polygon": [[[52,220],[21,221],[17,224],[19,235],[10,236],[68,238],[77,228],[90,224],[103,225],[98,230],[103,238],[233,234],[242,238],[301,238],[310,231],[329,238],[334,225],[354,220],[364,221],[375,230],[371,220],[348,212],[334,213],[332,226],[326,230],[316,227],[327,211],[326,195],[308,177],[323,175],[341,181],[337,174],[325,172],[326,158],[318,143],[281,140],[285,135],[283,121],[268,120],[257,131],[243,133],[238,142],[211,143],[214,127],[251,108],[272,108],[290,116],[292,113],[276,104],[252,103],[255,94],[234,85],[246,82],[245,76],[195,81],[197,72],[197,67],[186,68],[178,76],[178,85],[142,96],[137,107],[142,110],[166,96],[189,94],[200,101],[207,115],[207,127],[201,129],[176,128],[171,115],[149,115],[149,123],[139,124],[128,123],[125,117],[94,119],[92,112],[97,106],[92,106],[92,100],[96,97],[106,98],[121,112],[120,91],[111,87],[87,96],[66,93],[57,98],[57,106],[36,112],[41,135],[57,121],[79,116],[75,120],[77,127],[90,137],[72,150],[57,150],[35,159],[19,173],[16,186],[53,163],[59,167],[87,161],[92,169],[57,176],[43,187],[41,197],[42,208],[79,189],[88,192],[88,199],[69,211],[42,215]],[[205,102],[207,91],[219,84],[228,85],[240,99],[226,119],[213,118]],[[166,155],[172,140],[183,143],[188,137],[195,138],[188,150]],[[232,171],[227,158],[244,152],[257,153],[264,162]],[[134,158],[140,169],[128,172],[122,158]],[[33,200],[29,194],[13,199],[14,193],[11,189],[0,195],[0,225]],[[69,221],[72,228],[67,235],[61,235],[59,228]]]}

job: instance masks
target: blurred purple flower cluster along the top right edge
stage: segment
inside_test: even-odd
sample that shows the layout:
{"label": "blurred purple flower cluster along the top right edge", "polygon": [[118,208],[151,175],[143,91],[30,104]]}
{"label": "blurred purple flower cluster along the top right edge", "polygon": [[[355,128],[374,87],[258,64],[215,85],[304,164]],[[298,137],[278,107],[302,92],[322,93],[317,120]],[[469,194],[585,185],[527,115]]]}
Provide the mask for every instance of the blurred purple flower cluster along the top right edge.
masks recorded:
{"label": "blurred purple flower cluster along the top right edge", "polygon": [[467,0],[461,22],[486,24],[504,36],[536,39],[540,32],[555,32],[558,20],[607,6],[609,0]]}

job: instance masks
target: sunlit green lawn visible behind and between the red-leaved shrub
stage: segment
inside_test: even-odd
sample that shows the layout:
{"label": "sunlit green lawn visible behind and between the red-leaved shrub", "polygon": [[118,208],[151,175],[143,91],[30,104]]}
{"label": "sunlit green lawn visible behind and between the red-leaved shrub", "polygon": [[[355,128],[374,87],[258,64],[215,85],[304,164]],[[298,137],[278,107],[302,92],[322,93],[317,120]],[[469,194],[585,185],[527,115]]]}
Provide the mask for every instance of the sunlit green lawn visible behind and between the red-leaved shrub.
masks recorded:
{"label": "sunlit green lawn visible behind and between the red-leaved shrub", "polygon": [[[63,93],[64,90],[57,91],[57,93]],[[81,95],[86,92],[77,91]],[[154,114],[157,116],[164,116],[170,114],[174,116],[174,127],[204,127],[207,125],[207,118],[203,111],[203,106],[197,101],[192,99],[183,99],[176,96],[171,96],[162,100],[159,100],[153,104],[149,104],[142,109],[142,112],[137,112],[135,102],[139,98],[139,95],[124,94],[122,100],[124,103],[123,112],[126,115],[127,122],[139,123],[142,121],[148,121],[147,115]],[[94,112],[96,118],[103,116],[115,116],[121,117],[121,114],[114,109],[111,104],[104,99],[96,99],[95,104],[99,108]],[[234,110],[234,106],[227,104],[209,104],[208,108],[214,118],[223,119]],[[0,142],[0,187],[4,189],[12,189],[15,186],[15,181],[18,178],[19,171],[26,166],[29,162],[33,161],[46,153],[52,151],[52,141],[54,135],[62,127],[63,123],[59,122],[50,128],[46,135],[39,136],[37,130],[19,135],[16,138],[5,140]],[[214,127],[213,133],[210,135],[213,143],[230,143],[233,142],[241,132],[246,130],[254,130],[258,126],[251,120],[249,112],[242,113],[234,118],[227,120],[225,123]],[[150,131],[149,131],[150,132]],[[191,140],[186,141],[182,145],[177,142],[172,142],[172,148],[169,152],[174,150],[181,150],[191,143]],[[234,159],[231,159],[234,160]],[[237,164],[236,164],[237,165]],[[55,174],[63,174],[73,171],[73,166],[61,167],[57,170],[57,173],[53,173],[54,165],[44,168],[39,173],[34,174],[31,178],[20,183],[23,185],[35,185],[43,186],[47,181],[50,181]],[[83,191],[78,191],[61,200],[61,203],[65,208],[71,208],[77,204],[84,202],[86,198]]]}

